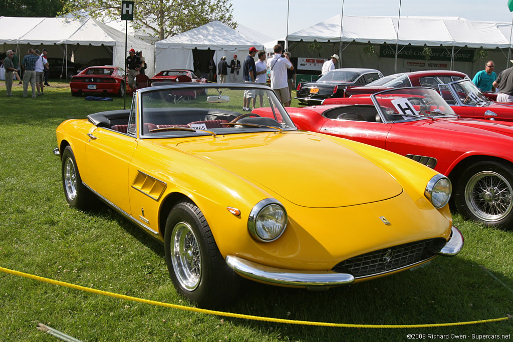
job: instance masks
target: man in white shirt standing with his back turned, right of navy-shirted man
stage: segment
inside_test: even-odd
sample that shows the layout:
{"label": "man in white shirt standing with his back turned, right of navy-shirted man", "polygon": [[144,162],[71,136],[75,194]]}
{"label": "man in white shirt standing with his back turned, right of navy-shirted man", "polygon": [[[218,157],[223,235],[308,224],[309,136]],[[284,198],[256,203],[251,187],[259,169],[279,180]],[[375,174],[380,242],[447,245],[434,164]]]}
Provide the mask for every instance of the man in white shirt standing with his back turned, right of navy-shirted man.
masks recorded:
{"label": "man in white shirt standing with his back turned, right of navy-shirted man", "polygon": [[287,69],[294,70],[286,55],[282,55],[282,46],[274,45],[274,55],[267,61],[267,68],[271,72],[271,88],[274,90],[283,106],[290,107],[290,93],[288,91]]}

